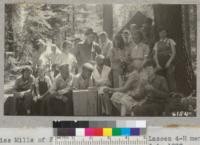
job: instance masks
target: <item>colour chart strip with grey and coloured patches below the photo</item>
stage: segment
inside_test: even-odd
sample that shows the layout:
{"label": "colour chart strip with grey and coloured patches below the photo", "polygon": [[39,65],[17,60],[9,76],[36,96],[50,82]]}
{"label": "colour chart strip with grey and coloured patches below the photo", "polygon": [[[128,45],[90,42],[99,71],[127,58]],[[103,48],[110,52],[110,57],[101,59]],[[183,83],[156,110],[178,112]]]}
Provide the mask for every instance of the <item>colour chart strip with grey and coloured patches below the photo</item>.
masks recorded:
{"label": "colour chart strip with grey and coloured patches below the photo", "polygon": [[54,121],[54,136],[144,136],[146,121]]}

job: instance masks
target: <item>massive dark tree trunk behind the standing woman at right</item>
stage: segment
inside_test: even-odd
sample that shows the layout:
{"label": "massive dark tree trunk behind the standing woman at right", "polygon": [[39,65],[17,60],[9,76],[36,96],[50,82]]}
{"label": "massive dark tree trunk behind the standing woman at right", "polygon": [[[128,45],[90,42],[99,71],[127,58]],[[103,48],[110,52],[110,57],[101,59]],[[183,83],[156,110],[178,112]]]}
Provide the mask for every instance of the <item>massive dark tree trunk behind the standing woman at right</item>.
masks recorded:
{"label": "massive dark tree trunk behind the standing woman at right", "polygon": [[[187,6],[181,5],[155,5],[155,26],[165,27],[168,36],[176,42],[176,84],[177,91],[185,95],[196,89],[196,79],[191,64],[189,20]],[[157,31],[158,34],[158,31]],[[157,35],[158,39],[158,35]]]}

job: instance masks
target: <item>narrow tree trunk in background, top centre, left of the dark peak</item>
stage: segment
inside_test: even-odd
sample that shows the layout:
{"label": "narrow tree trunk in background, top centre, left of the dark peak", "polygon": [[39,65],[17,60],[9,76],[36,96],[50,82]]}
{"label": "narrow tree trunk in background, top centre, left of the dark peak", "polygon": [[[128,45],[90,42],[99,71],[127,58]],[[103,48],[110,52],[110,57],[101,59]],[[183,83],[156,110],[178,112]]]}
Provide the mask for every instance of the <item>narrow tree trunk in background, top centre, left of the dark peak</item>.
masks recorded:
{"label": "narrow tree trunk in background, top centre, left of the dark peak", "polygon": [[113,37],[113,7],[111,4],[103,5],[103,30]]}

